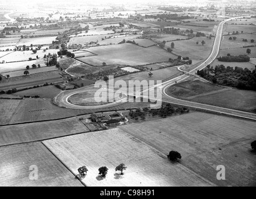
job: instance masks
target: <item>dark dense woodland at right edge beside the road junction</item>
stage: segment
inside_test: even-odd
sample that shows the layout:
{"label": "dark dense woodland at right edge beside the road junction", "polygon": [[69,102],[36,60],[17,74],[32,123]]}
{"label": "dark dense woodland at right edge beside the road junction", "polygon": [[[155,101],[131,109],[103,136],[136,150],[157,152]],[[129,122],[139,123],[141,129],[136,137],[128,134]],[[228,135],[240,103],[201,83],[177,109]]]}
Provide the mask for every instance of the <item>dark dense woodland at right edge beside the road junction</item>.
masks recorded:
{"label": "dark dense woodland at right edge beside the road junction", "polygon": [[[210,75],[210,73],[214,73],[214,75]],[[207,66],[203,70],[198,70],[197,74],[219,85],[256,91],[256,67],[251,71],[248,68],[235,67],[234,69],[224,65],[217,65],[213,70]]]}

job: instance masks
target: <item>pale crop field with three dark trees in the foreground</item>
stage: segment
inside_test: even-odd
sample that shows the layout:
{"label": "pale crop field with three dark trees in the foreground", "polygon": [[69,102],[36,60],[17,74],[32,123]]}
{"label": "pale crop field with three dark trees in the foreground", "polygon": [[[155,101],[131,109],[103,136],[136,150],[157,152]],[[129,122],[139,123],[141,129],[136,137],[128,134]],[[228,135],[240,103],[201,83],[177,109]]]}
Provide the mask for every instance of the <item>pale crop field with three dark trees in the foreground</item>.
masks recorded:
{"label": "pale crop field with three dark trees in the foreground", "polygon": [[[75,174],[78,167],[86,165],[89,171],[82,182],[89,187],[212,185],[182,164],[171,164],[165,154],[121,129],[88,132],[43,143]],[[121,163],[127,166],[124,175],[115,172]],[[98,175],[102,166],[109,168],[106,178]]]}

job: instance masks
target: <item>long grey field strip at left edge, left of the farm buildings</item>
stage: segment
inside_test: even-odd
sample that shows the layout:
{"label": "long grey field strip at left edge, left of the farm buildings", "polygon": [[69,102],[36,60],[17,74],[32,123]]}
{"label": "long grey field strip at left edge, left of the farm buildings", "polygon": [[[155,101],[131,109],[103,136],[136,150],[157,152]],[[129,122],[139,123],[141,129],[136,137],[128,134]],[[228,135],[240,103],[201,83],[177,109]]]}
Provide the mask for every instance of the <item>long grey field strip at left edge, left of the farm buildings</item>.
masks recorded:
{"label": "long grey field strip at left edge, left of the farm buildings", "polygon": [[0,146],[41,141],[89,131],[77,118],[1,126],[0,128]]}

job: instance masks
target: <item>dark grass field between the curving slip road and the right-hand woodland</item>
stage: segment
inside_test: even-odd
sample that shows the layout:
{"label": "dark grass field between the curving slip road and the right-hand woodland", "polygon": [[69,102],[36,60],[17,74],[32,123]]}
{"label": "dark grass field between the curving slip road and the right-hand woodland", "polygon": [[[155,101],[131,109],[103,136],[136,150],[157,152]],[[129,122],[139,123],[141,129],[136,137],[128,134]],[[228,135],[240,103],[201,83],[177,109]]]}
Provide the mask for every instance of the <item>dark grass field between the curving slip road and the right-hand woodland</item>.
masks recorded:
{"label": "dark grass field between the curving slip road and the right-hand woodland", "polygon": [[237,90],[222,86],[211,85],[200,80],[184,81],[170,86],[169,95],[189,99],[197,103],[210,104],[224,108],[252,111],[256,108],[256,92]]}

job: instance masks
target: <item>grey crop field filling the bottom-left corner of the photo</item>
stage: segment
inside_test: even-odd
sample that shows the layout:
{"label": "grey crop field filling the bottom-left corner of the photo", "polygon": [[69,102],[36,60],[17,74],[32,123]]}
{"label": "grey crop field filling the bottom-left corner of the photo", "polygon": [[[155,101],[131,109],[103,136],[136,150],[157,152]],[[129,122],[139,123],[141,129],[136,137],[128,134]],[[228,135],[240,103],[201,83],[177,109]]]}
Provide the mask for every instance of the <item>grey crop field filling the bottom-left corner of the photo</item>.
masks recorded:
{"label": "grey crop field filling the bottom-left corner of the photo", "polygon": [[[0,147],[0,158],[1,187],[82,186],[41,142]],[[31,165],[37,166],[37,180],[29,179]]]}

